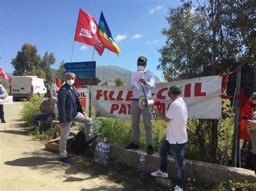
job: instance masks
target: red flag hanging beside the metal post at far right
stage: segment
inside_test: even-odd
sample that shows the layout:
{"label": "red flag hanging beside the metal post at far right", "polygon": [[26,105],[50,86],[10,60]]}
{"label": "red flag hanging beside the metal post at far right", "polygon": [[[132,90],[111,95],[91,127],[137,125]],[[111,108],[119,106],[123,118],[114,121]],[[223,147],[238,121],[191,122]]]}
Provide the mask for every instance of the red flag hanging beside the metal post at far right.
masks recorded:
{"label": "red flag hanging beside the metal post at far right", "polygon": [[252,119],[252,100],[246,95],[244,88],[241,88],[240,94],[240,129],[238,138],[243,140],[251,140],[251,136],[246,131],[246,124],[242,116],[247,116],[248,119]]}

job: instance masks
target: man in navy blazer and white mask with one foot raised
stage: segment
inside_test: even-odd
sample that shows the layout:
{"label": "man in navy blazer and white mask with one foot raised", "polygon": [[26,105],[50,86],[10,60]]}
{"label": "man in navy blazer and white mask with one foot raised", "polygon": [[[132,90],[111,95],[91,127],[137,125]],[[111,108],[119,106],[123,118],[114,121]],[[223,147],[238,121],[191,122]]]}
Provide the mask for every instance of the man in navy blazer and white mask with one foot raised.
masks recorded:
{"label": "man in navy blazer and white mask with one foot raised", "polygon": [[77,97],[75,83],[75,74],[72,72],[66,73],[65,84],[58,91],[58,111],[60,123],[60,140],[59,140],[59,163],[64,165],[72,165],[66,157],[66,140],[69,137],[71,124],[73,121],[83,123],[85,125],[85,137],[88,146],[98,139],[98,136],[91,137],[89,135],[91,129],[91,118],[87,117],[83,112],[82,106]]}

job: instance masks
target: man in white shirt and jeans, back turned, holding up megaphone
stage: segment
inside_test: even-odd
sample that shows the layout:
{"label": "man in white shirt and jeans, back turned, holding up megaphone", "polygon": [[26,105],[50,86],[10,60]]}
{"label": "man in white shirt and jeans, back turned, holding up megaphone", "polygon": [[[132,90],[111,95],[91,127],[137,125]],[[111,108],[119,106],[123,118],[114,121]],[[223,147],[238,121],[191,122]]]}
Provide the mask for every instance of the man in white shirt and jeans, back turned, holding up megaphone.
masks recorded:
{"label": "man in white shirt and jeans, back turned, holding up megaphone", "polygon": [[185,173],[184,148],[187,142],[187,106],[181,96],[180,86],[170,87],[169,95],[173,102],[166,114],[156,111],[156,114],[167,122],[167,134],[158,148],[160,169],[151,173],[151,175],[163,178],[168,177],[167,153],[172,150],[175,166],[178,168],[177,182],[174,190],[183,190]]}

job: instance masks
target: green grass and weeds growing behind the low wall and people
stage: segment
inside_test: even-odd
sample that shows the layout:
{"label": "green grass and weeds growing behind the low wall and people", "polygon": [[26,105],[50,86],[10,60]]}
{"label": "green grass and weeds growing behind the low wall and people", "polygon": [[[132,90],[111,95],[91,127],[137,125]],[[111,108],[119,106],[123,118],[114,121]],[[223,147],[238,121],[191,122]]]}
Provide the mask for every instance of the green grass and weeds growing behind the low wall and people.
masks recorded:
{"label": "green grass and weeds growing behind the low wall and people", "polygon": [[[26,101],[24,103],[24,107],[21,111],[23,120],[27,122],[29,126],[32,126],[31,116],[34,114],[39,114],[39,105],[42,102],[42,98],[39,97],[32,97],[29,101]],[[133,141],[133,132],[131,127],[131,120],[130,119],[117,119],[117,118],[106,118],[106,117],[97,117],[97,111],[95,109],[92,109],[91,111],[91,117],[93,119],[92,121],[92,129],[97,128],[99,130],[99,135],[101,137],[106,137],[109,139],[112,143],[119,143],[127,145]],[[227,129],[228,121],[223,120],[219,123],[219,149],[218,149],[218,158],[221,158],[221,155],[223,155],[223,148],[226,142],[226,129]],[[143,125],[143,121],[140,121],[140,139],[139,139],[139,145],[141,148],[146,149],[146,136],[145,136],[145,129]],[[72,124],[73,129],[76,130],[83,130],[84,126],[83,124],[79,123],[73,123]],[[194,126],[190,121],[188,122],[188,128],[194,129]],[[232,128],[231,128],[232,129]],[[158,121],[152,121],[152,144],[154,151],[158,151],[158,147],[160,143],[162,142],[163,138],[166,135],[166,123],[164,121],[158,120]],[[206,130],[205,130],[206,131]],[[227,151],[225,154],[225,162],[224,164],[228,164],[228,161],[231,157],[231,146],[232,146],[232,131],[228,133],[228,136],[230,136],[230,139],[228,139],[227,144]],[[50,134],[50,135],[49,135]],[[34,135],[36,139],[40,140],[51,140],[52,132],[46,132],[42,135],[40,133],[37,133]],[[196,133],[195,133],[196,135]],[[188,135],[190,137],[191,135]],[[196,139],[197,141],[197,139]],[[208,157],[207,157],[208,156]],[[191,160],[201,160],[201,161],[208,161],[210,162],[211,156],[207,153],[202,153],[200,148],[188,140],[188,143],[185,147],[185,158],[191,159]]]}

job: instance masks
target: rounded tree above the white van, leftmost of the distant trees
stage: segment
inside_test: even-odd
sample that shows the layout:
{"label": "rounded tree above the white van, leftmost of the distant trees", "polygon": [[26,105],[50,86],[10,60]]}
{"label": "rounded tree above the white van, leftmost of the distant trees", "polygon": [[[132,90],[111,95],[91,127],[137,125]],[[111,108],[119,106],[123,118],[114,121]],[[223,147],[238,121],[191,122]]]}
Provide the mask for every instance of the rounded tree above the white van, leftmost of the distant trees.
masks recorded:
{"label": "rounded tree above the white van, leftmost of the distant trees", "polygon": [[14,75],[32,72],[40,63],[41,58],[37,54],[36,46],[28,43],[22,46],[22,51],[18,51],[16,58],[11,61],[12,66],[15,68]]}

